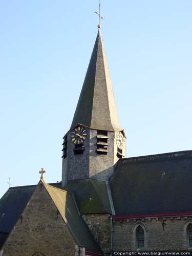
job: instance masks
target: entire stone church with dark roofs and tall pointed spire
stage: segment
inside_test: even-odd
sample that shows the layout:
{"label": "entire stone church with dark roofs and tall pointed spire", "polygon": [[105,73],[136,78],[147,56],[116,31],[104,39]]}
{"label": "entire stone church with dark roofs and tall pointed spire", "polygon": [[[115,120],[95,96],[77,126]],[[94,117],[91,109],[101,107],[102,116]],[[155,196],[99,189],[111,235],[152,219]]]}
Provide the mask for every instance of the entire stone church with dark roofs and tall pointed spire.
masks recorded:
{"label": "entire stone church with dark roofs and tall pointed spire", "polygon": [[[192,151],[126,158],[100,26],[70,130],[62,182],[10,187],[0,256],[192,251]],[[125,254],[126,255],[126,254]]]}

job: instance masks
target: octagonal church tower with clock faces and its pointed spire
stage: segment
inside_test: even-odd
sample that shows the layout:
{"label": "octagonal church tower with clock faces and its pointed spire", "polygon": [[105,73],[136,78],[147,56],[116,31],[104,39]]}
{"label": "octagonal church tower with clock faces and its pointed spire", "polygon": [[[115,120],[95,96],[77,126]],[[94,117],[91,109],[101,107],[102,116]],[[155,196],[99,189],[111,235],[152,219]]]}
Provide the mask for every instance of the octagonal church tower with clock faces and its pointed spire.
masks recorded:
{"label": "octagonal church tower with clock faces and its pointed spire", "polygon": [[63,137],[62,185],[68,180],[108,180],[125,157],[112,83],[98,30],[70,131]]}

